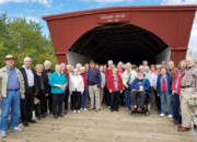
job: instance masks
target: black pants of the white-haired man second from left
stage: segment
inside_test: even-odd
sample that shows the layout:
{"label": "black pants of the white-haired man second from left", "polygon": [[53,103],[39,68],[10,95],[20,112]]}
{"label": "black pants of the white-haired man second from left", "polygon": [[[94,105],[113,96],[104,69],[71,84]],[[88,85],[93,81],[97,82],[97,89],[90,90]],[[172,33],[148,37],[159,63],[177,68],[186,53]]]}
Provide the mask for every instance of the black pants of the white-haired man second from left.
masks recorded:
{"label": "black pants of the white-haired man second from left", "polygon": [[34,87],[28,87],[25,92],[25,99],[21,99],[21,119],[22,122],[27,122],[32,119],[34,109]]}

